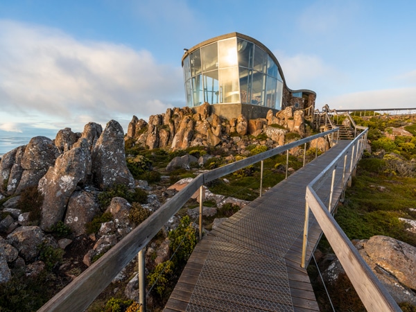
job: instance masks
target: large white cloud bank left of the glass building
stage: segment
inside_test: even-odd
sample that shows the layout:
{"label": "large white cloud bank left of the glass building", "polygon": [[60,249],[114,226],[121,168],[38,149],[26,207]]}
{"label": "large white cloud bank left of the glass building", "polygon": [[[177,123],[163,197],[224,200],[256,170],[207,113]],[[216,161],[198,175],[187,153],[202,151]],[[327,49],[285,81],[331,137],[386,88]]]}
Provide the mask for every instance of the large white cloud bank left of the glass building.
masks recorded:
{"label": "large white cloud bank left of the glass building", "polygon": [[51,123],[147,118],[184,99],[183,89],[182,69],[157,64],[148,51],[0,20],[3,112],[51,116]]}

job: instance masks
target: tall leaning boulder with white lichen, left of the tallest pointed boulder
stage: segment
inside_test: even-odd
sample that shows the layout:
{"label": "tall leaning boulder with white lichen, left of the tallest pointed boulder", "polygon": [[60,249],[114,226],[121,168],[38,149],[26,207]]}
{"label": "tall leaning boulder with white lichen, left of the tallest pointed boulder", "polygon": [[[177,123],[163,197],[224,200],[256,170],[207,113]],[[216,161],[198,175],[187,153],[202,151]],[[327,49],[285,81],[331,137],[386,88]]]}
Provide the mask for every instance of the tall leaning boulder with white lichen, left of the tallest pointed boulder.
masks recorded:
{"label": "tall leaning boulder with white lichen, left of the tallest pointed boulder", "polygon": [[87,139],[80,139],[71,150],[56,159],[55,166],[42,177],[38,189],[44,195],[40,227],[50,229],[64,217],[68,200],[78,183],[86,182],[91,171]]}

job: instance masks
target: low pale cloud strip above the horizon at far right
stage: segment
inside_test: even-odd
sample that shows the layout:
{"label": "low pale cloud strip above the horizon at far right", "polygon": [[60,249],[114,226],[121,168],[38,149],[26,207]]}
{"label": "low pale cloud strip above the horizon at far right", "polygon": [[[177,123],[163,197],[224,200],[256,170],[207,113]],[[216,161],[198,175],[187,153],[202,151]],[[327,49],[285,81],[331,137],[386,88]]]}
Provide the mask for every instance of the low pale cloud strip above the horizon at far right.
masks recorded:
{"label": "low pale cloud strip above the horizon at far right", "polygon": [[415,108],[416,87],[369,90],[326,98],[331,108],[374,109],[374,108]]}

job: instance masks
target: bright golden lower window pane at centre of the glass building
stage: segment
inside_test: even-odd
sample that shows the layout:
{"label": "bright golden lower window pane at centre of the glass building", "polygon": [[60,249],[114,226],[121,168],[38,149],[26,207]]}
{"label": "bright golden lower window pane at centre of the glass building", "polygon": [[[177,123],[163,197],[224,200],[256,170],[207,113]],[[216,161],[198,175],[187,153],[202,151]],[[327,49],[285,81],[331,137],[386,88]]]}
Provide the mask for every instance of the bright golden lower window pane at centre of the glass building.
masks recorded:
{"label": "bright golden lower window pane at centre of the glass building", "polygon": [[220,69],[220,103],[240,103],[239,69]]}

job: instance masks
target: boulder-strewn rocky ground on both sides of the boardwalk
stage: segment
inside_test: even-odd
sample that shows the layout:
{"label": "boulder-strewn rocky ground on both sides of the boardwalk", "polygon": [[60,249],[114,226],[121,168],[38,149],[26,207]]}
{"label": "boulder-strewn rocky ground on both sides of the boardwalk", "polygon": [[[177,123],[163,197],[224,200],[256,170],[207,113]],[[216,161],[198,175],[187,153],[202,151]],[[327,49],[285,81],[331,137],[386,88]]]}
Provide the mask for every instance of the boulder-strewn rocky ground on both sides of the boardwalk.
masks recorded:
{"label": "boulder-strewn rocky ground on both sides of the boardwalk", "polygon": [[[140,207],[151,212],[189,182],[182,180],[171,185],[170,178],[162,176],[160,182],[149,185],[144,180],[135,179],[126,164],[125,141],[130,142],[130,146],[143,146],[150,150],[211,146],[216,148],[218,155],[228,155],[225,158],[231,162],[235,161],[236,155],[250,155],[250,145],[279,146],[290,137],[302,137],[306,128],[303,112],[293,111],[291,107],[276,115],[268,114],[264,119],[247,121],[239,116],[232,121],[224,121],[209,114],[209,105],[201,105],[197,112],[187,107],[168,110],[165,114],[151,116],[149,123],[134,117],[126,136],[119,123],[110,121],[104,130],[101,125],[88,123],[82,133],[65,128],[58,132],[54,140],[33,138],[27,146],[20,146],[3,155],[0,161],[0,284],[12,281],[17,272],[24,272],[23,278],[36,279],[42,276],[42,272],[48,271],[51,272],[49,280],[55,283],[49,293],[53,295],[137,225],[130,218],[130,211],[140,191],[146,191],[146,198]],[[312,146],[324,151],[329,143],[322,139]],[[303,152],[296,150],[293,153]],[[197,173],[209,157],[214,156],[203,155],[198,159],[193,155],[182,155],[174,158],[162,171],[169,173],[179,167]],[[198,166],[195,167],[195,164]],[[124,197],[130,198],[130,201],[121,196],[111,196],[103,205],[100,200],[102,194],[119,184],[125,186],[127,191]],[[212,220],[207,230],[220,222],[223,216],[218,211],[225,203],[236,209],[247,204],[244,200],[225,198],[209,191],[206,200],[214,203],[214,207],[204,207],[205,217]],[[162,234],[148,245],[147,272],[169,259],[171,251],[167,233],[177,227],[183,216],[196,218],[197,204],[197,199],[191,200],[189,207],[184,207],[180,214],[172,218],[164,226]],[[105,216],[105,213],[110,216],[109,219],[98,220],[97,229],[87,231],[87,225],[97,216]],[[374,241],[384,253],[399,250],[390,256],[397,261],[386,264],[380,256],[374,255],[374,247],[370,248],[371,251],[366,249],[366,246],[374,245]],[[387,275],[394,277],[390,279],[393,293],[408,293],[406,300],[416,304],[416,286],[411,279],[409,282],[405,278],[416,274],[415,248],[398,241],[388,241],[389,246],[385,246],[386,241],[388,239],[370,239],[356,243],[356,246],[365,259],[371,259],[369,263],[374,272],[383,272],[380,275],[382,280]],[[324,259],[327,261],[329,257]],[[406,268],[398,266],[403,263],[406,263]],[[327,267],[329,280],[340,275],[333,272],[342,271],[336,261],[328,262]],[[403,288],[399,289],[395,283]],[[110,297],[137,301],[137,288],[137,263],[134,259],[98,297],[90,311],[102,311],[103,304]],[[0,294],[0,307],[1,299],[7,297],[4,296]],[[403,297],[398,298],[403,300]],[[45,301],[46,298],[43,298],[38,305]],[[160,298],[156,300],[153,297],[149,298],[149,304],[154,307],[153,311],[163,305]]]}

